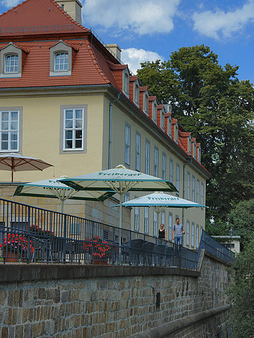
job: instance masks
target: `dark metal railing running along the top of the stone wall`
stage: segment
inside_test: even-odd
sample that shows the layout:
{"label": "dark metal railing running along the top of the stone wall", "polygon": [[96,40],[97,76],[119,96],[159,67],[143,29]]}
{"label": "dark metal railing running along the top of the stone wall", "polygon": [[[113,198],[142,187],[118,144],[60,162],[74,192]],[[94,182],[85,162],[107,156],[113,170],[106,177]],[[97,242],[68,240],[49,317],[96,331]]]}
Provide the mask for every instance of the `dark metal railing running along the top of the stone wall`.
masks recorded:
{"label": "dark metal railing running along the top of the stone wall", "polygon": [[[221,258],[229,256],[229,250],[223,247],[222,251],[205,232],[200,243]],[[196,269],[199,255],[154,236],[0,198],[0,257],[4,262]]]}

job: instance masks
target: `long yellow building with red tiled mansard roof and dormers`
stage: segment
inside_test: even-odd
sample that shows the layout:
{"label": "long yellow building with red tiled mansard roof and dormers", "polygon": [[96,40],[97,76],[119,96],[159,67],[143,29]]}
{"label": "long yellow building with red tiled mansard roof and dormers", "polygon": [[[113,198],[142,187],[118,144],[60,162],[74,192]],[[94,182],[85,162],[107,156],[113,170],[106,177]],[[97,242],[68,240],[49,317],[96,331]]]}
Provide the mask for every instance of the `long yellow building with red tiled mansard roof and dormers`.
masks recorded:
{"label": "long yellow building with red tiled mansard roof and dormers", "polygon": [[[103,45],[80,22],[78,0],[43,5],[26,0],[0,16],[0,152],[54,165],[43,172],[15,172],[15,181],[73,177],[122,163],[170,180],[180,198],[205,204],[209,172],[201,163],[200,143],[172,118],[170,105],[159,104],[122,65],[120,47]],[[2,196],[11,195],[10,172],[1,171],[0,177]],[[55,200],[15,200],[60,210]],[[118,225],[111,209],[116,203],[68,201],[65,212]],[[205,209],[170,209],[160,219],[148,209],[126,209],[123,223],[155,236],[165,223],[170,239],[176,216],[184,224],[184,244],[196,248]]]}

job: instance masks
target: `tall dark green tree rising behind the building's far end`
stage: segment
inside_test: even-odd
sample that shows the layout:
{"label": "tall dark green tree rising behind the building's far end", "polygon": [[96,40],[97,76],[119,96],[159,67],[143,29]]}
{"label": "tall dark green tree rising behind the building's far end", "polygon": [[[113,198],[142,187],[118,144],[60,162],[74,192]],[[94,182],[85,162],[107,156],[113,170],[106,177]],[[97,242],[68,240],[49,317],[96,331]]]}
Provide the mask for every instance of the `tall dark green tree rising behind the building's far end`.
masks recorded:
{"label": "tall dark green tree rising behind the building's far end", "polygon": [[207,218],[227,220],[240,200],[253,198],[254,89],[239,81],[237,66],[219,65],[204,45],[182,47],[168,61],[141,63],[138,77],[173,117],[201,143],[202,161],[211,172]]}

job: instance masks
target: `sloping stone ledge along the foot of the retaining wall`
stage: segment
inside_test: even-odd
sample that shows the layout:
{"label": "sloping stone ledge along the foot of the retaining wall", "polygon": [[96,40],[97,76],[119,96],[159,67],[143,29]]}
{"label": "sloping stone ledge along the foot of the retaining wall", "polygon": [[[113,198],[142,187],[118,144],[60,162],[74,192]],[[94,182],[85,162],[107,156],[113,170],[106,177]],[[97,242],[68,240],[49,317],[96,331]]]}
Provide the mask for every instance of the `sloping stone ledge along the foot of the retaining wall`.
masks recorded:
{"label": "sloping stone ledge along the foot of the retaining wall", "polygon": [[215,307],[214,309],[208,309],[206,311],[198,312],[197,314],[193,314],[192,316],[188,316],[183,319],[176,319],[173,322],[166,323],[157,328],[152,328],[147,332],[137,333],[136,335],[132,335],[129,338],[166,338],[174,332],[183,330],[184,328],[194,325],[200,321],[204,321],[209,317],[216,316],[221,312],[228,311],[228,309],[230,309],[230,305],[223,305],[220,307]]}

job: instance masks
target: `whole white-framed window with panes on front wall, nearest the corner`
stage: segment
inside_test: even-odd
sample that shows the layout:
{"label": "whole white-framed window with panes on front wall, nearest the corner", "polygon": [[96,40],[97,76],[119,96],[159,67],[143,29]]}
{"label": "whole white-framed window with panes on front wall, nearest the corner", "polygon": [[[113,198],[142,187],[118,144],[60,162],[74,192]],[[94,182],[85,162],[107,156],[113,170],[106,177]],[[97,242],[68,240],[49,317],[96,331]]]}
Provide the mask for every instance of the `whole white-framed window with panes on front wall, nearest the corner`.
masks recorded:
{"label": "whole white-framed window with panes on front wall, nearest the corner", "polygon": [[65,109],[63,120],[63,150],[84,149],[84,109]]}

